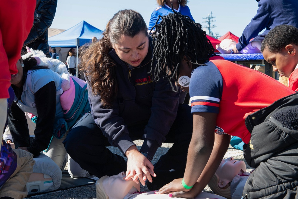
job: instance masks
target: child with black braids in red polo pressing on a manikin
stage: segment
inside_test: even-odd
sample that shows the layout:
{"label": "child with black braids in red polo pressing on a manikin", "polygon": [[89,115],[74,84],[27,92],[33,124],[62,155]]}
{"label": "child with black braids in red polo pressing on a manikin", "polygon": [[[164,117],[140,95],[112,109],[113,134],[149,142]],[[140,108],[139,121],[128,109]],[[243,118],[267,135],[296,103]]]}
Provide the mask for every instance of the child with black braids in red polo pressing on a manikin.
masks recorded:
{"label": "child with black braids in red polo pressing on a manikin", "polygon": [[168,81],[173,90],[178,85],[188,91],[193,114],[184,178],[163,186],[157,194],[194,198],[224,158],[230,135],[249,143],[246,116],[293,91],[269,76],[215,56],[201,25],[180,13],[163,16],[155,25],[153,45],[155,78]]}

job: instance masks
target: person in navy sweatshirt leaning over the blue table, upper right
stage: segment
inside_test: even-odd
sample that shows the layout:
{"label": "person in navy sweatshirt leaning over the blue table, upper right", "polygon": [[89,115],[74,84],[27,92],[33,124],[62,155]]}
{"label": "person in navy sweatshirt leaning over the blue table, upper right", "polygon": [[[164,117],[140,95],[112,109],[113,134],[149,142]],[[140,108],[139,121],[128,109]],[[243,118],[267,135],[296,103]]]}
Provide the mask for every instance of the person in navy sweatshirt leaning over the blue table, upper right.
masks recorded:
{"label": "person in navy sweatshirt leaning over the blue table, upper right", "polygon": [[[240,53],[252,38],[263,41],[268,32],[277,25],[288,24],[298,28],[298,1],[256,1],[259,2],[257,14],[243,30],[238,44],[233,48],[234,53]],[[259,35],[265,28],[266,30]]]}

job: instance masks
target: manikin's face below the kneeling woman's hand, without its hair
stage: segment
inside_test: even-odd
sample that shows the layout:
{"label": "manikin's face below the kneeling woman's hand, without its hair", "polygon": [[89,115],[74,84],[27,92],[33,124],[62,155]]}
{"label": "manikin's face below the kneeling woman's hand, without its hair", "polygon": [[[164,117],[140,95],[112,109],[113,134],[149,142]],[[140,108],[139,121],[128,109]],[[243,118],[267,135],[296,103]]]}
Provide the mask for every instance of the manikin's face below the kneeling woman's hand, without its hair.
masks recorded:
{"label": "manikin's face below the kneeling woman's hand, without its hair", "polygon": [[127,193],[134,193],[140,190],[140,184],[135,183],[133,180],[125,181],[123,179],[125,177],[125,172],[121,172],[103,180],[103,188],[109,199],[124,198]]}

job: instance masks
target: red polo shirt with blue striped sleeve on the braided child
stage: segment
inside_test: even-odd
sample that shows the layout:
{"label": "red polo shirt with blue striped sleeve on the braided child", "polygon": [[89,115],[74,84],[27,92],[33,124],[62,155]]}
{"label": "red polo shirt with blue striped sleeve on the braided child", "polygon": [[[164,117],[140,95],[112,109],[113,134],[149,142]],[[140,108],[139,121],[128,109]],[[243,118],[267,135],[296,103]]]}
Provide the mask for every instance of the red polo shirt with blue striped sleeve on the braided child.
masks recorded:
{"label": "red polo shirt with blue striped sleeve on the braided child", "polygon": [[246,116],[294,93],[261,72],[221,59],[193,70],[189,91],[192,113],[217,113],[215,133],[238,136],[246,144]]}

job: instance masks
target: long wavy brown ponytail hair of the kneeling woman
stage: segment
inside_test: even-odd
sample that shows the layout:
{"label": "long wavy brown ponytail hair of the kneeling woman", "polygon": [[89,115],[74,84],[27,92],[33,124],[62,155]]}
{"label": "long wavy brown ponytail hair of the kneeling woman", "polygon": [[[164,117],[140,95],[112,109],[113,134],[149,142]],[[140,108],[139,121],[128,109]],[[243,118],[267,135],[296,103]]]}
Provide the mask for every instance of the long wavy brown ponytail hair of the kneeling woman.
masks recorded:
{"label": "long wavy brown ponytail hair of the kneeling woman", "polygon": [[100,95],[104,107],[111,107],[117,96],[114,60],[108,55],[122,35],[134,37],[139,32],[147,35],[147,25],[140,13],[120,10],[108,21],[103,37],[90,46],[83,46],[80,53],[82,70],[92,87],[92,94]]}

